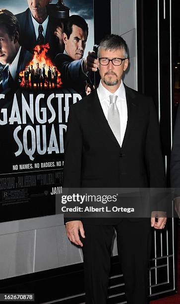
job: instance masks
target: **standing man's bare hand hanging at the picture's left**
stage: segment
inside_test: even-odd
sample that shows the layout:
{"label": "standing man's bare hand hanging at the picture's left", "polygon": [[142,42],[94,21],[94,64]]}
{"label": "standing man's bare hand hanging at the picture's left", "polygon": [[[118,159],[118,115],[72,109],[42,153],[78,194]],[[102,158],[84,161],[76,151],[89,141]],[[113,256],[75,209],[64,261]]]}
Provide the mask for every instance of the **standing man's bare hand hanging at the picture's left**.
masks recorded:
{"label": "standing man's bare hand hanging at the picture's left", "polygon": [[73,242],[76,245],[83,246],[83,243],[80,241],[79,238],[79,231],[83,238],[85,238],[84,235],[84,228],[81,221],[71,221],[65,224],[66,233],[68,236],[68,239]]}

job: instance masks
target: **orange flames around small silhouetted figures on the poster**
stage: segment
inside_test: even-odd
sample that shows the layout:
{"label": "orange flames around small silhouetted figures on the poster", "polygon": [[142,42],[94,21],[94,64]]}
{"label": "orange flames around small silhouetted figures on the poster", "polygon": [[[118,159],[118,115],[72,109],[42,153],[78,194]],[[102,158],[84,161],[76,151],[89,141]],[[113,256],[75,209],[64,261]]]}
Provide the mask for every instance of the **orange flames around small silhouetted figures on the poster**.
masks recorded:
{"label": "orange flames around small silhouetted figures on the poster", "polygon": [[[44,83],[45,87],[48,87],[48,79],[47,79],[47,75],[48,75],[48,67],[50,66],[50,68],[54,71],[55,66],[53,65],[51,59],[47,56],[48,50],[50,49],[49,43],[44,44],[44,45],[37,45],[34,48],[34,55],[33,55],[33,59],[31,62],[29,62],[27,64],[27,68],[29,68],[31,65],[33,66],[33,69],[36,71],[36,64],[39,63],[39,68],[43,67],[43,64],[45,64],[45,72],[46,72],[46,80]],[[24,79],[24,73],[26,70],[21,71],[19,73],[19,81],[20,81],[20,86],[21,87],[25,87],[25,79]],[[58,72],[58,87],[60,87],[62,85],[61,82],[61,78],[60,78],[60,72],[57,70]],[[52,76],[52,82],[53,82],[53,87],[54,87],[54,80],[53,80],[53,76]],[[42,86],[42,85],[41,85]],[[27,85],[26,85],[27,87]],[[29,75],[29,87],[31,87],[31,76]],[[36,82],[34,82],[34,87],[36,87]],[[51,86],[50,86],[51,87]]]}

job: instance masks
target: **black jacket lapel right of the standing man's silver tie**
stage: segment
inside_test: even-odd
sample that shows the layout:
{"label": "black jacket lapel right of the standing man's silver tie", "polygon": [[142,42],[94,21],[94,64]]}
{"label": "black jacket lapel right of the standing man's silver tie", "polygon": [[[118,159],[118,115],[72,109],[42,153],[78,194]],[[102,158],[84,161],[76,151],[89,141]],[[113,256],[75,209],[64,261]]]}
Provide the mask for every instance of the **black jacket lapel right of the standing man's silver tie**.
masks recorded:
{"label": "black jacket lapel right of the standing man's silver tie", "polygon": [[137,109],[138,109],[138,105],[136,103],[135,95],[133,94],[133,91],[131,91],[125,84],[124,87],[125,87],[125,96],[127,103],[127,126],[121,148],[124,148],[128,143],[128,137],[133,128],[133,124],[135,122]]}

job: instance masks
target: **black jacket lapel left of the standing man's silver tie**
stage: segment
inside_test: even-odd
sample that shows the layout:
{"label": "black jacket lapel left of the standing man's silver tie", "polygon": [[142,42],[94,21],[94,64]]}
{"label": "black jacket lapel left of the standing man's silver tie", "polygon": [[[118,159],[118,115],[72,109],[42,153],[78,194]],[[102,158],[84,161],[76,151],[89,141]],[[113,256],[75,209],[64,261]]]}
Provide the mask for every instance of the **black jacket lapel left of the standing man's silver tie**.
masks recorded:
{"label": "black jacket lapel left of the standing man's silver tie", "polygon": [[116,137],[113,134],[113,131],[111,130],[108,121],[104,115],[103,109],[100,104],[100,100],[97,94],[97,90],[94,90],[94,92],[91,93],[92,95],[92,103],[90,107],[90,111],[92,114],[93,119],[98,123],[100,128],[103,129],[109,136],[109,138],[117,145],[117,148],[120,149],[120,145],[116,139]]}

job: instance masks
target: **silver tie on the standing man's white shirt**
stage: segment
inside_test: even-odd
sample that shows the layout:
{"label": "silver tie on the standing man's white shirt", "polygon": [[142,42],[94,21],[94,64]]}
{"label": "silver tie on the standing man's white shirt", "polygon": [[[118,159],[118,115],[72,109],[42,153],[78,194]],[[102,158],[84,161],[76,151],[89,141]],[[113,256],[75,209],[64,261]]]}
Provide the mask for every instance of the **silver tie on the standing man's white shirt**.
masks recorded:
{"label": "silver tie on the standing man's white shirt", "polygon": [[110,107],[108,111],[108,123],[113,131],[118,143],[120,144],[120,113],[116,101],[117,95],[110,95]]}

